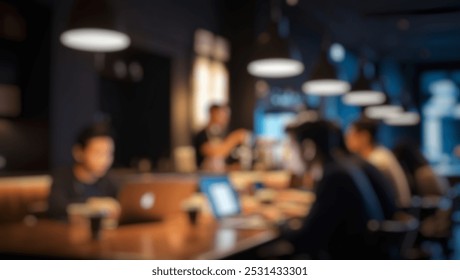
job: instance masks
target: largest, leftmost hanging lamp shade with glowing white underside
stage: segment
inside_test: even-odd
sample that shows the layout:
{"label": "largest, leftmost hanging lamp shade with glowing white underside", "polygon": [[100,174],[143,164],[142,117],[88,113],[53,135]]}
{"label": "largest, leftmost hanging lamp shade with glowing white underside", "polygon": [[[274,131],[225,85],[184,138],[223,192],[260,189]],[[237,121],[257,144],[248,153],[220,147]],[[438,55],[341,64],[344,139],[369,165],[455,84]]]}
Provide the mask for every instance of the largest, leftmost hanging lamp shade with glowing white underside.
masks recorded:
{"label": "largest, leftmost hanging lamp shade with glowing white underside", "polygon": [[68,28],[60,40],[63,45],[82,51],[120,51],[131,43],[129,36],[120,29],[106,0],[76,0]]}

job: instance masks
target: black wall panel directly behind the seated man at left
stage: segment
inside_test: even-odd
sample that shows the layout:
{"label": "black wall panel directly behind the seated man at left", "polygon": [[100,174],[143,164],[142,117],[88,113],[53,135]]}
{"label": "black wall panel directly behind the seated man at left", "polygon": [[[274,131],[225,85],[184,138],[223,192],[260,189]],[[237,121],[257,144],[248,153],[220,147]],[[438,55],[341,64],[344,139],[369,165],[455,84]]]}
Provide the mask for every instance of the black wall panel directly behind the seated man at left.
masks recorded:
{"label": "black wall panel directly behind the seated man at left", "polygon": [[143,69],[139,81],[121,80],[110,71],[99,81],[101,109],[110,116],[115,134],[114,166],[126,167],[148,158],[157,167],[171,150],[171,59],[141,50],[113,56],[108,60],[137,62]]}

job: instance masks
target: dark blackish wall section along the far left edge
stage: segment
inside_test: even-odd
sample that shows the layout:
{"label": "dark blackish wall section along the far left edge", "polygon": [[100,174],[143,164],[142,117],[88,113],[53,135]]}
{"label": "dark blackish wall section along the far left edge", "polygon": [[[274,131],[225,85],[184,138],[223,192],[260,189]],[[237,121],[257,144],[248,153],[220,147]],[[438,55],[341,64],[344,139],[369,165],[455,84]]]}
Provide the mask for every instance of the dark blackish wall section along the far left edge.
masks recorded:
{"label": "dark blackish wall section along the far left edge", "polygon": [[[6,159],[0,169],[47,170],[52,9],[36,1],[1,1],[0,10],[0,83],[18,86],[21,98],[19,116],[0,118],[0,156]],[[8,25],[4,13],[11,11],[19,21]]]}

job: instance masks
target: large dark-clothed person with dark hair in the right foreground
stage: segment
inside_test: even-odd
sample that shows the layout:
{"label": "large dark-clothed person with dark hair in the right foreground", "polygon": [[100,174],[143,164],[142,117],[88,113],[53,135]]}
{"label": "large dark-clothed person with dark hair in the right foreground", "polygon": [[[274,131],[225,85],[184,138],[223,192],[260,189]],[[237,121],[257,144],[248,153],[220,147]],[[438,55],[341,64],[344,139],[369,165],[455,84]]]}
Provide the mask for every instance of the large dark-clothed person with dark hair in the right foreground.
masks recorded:
{"label": "large dark-clothed person with dark hair in the right foreground", "polygon": [[300,229],[287,232],[296,254],[308,258],[378,258],[369,242],[369,220],[391,219],[391,187],[372,165],[348,153],[340,128],[329,121],[291,129],[306,173],[312,173],[316,201]]}

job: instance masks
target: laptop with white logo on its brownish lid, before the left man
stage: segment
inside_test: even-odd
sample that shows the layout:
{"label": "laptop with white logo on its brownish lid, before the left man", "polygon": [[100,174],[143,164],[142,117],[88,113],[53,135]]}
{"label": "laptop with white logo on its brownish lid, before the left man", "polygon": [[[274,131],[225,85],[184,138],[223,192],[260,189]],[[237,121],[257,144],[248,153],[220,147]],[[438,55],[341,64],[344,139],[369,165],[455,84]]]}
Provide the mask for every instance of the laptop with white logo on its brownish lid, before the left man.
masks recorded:
{"label": "laptop with white logo on its brownish lid, before the left man", "polygon": [[119,225],[159,222],[165,216],[182,213],[181,202],[195,192],[196,180],[128,184],[118,196]]}

